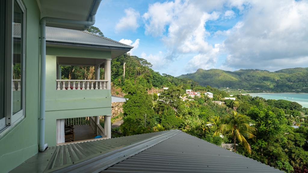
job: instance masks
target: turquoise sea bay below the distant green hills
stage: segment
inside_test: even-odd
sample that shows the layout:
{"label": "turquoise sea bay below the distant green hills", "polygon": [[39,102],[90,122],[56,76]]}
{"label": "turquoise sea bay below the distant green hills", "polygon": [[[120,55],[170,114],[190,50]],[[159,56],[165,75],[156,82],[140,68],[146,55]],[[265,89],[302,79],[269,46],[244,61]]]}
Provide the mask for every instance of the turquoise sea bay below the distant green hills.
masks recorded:
{"label": "turquoise sea bay below the distant green hills", "polygon": [[308,93],[254,93],[249,95],[263,97],[264,99],[289,100],[308,108]]}

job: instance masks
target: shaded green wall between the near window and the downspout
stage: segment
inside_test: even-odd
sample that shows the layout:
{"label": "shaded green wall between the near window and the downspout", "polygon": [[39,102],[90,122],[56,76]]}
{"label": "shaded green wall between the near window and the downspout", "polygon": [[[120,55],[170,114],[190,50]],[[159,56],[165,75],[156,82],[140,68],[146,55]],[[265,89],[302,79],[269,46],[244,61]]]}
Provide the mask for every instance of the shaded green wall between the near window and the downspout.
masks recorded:
{"label": "shaded green wall between the near window and the downspout", "polygon": [[36,0],[26,6],[25,118],[0,139],[0,172],[8,172],[38,152],[39,20]]}

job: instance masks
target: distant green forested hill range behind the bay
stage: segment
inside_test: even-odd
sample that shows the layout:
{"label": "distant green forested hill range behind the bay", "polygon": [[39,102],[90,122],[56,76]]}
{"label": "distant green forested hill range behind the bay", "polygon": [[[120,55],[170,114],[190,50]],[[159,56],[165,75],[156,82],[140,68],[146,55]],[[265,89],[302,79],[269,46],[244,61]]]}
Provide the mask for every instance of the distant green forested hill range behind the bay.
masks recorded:
{"label": "distant green forested hill range behind the bay", "polygon": [[201,86],[244,89],[250,91],[308,92],[308,68],[289,68],[275,72],[258,69],[225,71],[198,69],[177,78],[189,78]]}

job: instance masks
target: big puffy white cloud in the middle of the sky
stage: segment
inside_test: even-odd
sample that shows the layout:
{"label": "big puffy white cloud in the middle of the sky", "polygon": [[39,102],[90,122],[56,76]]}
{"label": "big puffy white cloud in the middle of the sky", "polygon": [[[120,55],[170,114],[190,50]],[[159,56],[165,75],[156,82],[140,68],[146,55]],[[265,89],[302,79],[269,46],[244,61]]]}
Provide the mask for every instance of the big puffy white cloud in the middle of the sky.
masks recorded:
{"label": "big puffy white cloud in the middle of the sky", "polygon": [[[217,3],[213,5],[216,6]],[[200,54],[195,59],[213,59],[215,57],[211,56],[214,55],[215,48],[206,41],[210,33],[205,25],[207,21],[217,20],[219,16],[219,12],[206,12],[194,1],[156,2],[143,15],[145,34],[161,38],[167,48],[164,59],[168,61],[176,60],[179,54],[191,53]],[[187,68],[193,69],[196,66]]]}

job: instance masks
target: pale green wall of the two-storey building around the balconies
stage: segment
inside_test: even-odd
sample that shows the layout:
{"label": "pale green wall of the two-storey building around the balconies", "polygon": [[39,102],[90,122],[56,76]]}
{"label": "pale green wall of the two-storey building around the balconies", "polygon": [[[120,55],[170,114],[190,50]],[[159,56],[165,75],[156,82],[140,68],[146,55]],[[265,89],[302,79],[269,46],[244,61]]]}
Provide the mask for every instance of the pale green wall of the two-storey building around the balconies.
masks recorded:
{"label": "pale green wall of the two-storey building around the balconies", "polygon": [[57,57],[110,59],[111,53],[47,47],[46,54],[45,141],[55,146],[57,119],[111,115],[110,90],[56,90]]}

